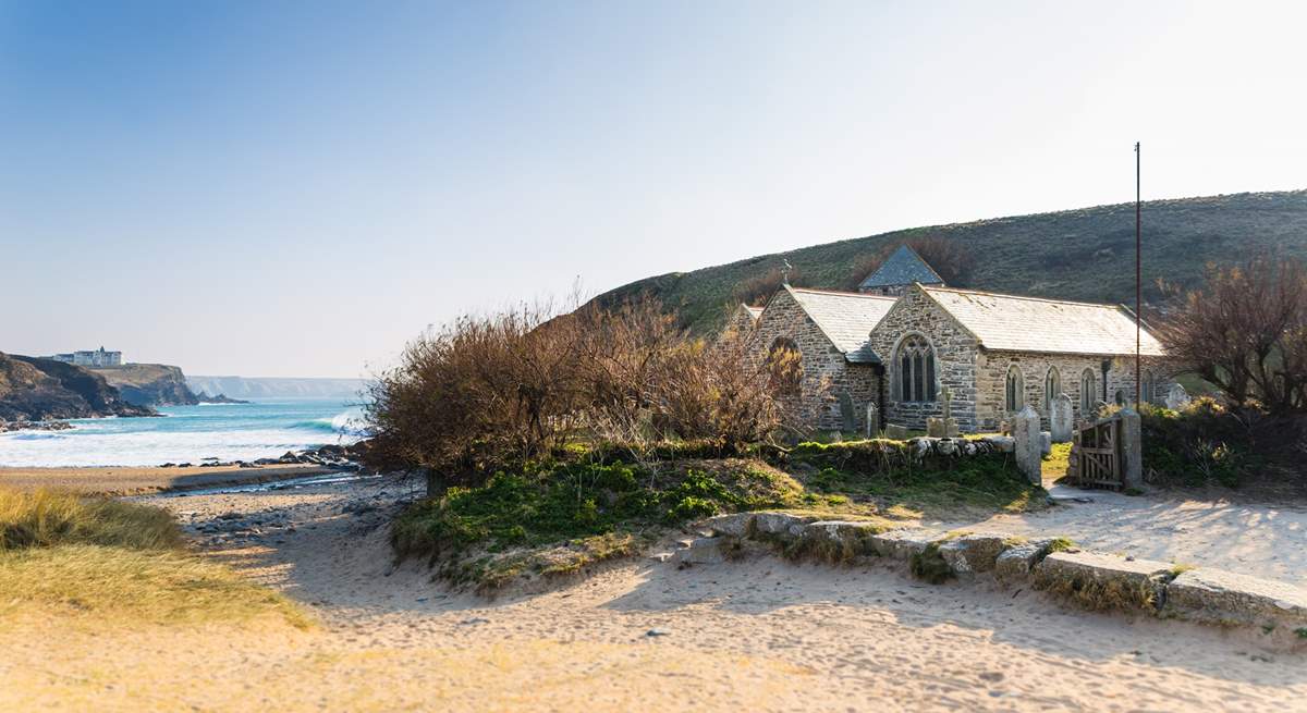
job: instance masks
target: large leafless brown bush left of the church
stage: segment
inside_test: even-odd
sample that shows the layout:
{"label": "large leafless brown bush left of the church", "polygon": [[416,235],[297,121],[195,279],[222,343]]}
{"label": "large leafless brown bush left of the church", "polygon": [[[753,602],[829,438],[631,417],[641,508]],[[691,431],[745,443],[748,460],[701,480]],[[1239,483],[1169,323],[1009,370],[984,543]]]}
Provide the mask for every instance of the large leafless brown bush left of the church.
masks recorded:
{"label": "large leafless brown bush left of the church", "polygon": [[463,317],[412,342],[372,388],[371,457],[467,484],[578,441],[738,452],[786,420],[744,337],[690,337],[648,300],[550,315]]}

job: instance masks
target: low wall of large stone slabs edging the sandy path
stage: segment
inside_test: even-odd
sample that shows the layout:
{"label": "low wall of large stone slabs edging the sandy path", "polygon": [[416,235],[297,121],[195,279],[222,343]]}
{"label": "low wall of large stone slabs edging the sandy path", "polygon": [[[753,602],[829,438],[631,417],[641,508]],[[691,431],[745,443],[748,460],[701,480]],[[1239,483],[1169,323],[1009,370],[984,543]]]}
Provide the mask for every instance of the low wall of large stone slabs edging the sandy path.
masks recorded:
{"label": "low wall of large stone slabs edging the sandy path", "polygon": [[699,538],[655,559],[714,564],[753,541],[829,563],[906,562],[915,575],[935,581],[966,582],[987,575],[1002,586],[1034,586],[1095,611],[1256,627],[1266,644],[1307,650],[1307,589],[1221,569],[1081,550],[1065,538],[1027,541],[1002,534],[890,529],[876,521],[821,520],[787,512],[720,515],[695,529]]}

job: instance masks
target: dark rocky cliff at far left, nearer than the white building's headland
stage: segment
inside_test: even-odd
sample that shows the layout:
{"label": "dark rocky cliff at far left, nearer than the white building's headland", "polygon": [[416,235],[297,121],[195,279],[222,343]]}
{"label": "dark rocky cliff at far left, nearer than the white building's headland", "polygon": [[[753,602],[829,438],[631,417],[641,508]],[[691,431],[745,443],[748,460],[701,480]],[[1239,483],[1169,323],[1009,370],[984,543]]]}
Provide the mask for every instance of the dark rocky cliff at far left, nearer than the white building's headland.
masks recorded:
{"label": "dark rocky cliff at far left, nearer than the white building's headland", "polygon": [[0,419],[48,420],[106,415],[154,415],[123,400],[90,370],[50,359],[0,353]]}

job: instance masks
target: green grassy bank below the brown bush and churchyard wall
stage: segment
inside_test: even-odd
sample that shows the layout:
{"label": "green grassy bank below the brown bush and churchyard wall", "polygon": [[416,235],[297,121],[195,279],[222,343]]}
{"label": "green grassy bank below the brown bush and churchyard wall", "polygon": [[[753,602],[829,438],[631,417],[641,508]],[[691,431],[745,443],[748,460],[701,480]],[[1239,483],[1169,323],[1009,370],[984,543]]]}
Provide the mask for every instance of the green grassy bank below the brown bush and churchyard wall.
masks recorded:
{"label": "green grassy bank below the brown bush and churchyard wall", "polygon": [[[902,462],[874,460],[884,443],[895,444],[890,449]],[[769,456],[775,465],[759,458],[631,464],[610,451],[578,449],[412,505],[392,522],[391,543],[399,558],[425,558],[442,578],[489,594],[520,577],[572,575],[635,555],[712,515],[786,509],[908,520],[1046,504],[1009,457],[914,461],[906,448],[801,444]]]}

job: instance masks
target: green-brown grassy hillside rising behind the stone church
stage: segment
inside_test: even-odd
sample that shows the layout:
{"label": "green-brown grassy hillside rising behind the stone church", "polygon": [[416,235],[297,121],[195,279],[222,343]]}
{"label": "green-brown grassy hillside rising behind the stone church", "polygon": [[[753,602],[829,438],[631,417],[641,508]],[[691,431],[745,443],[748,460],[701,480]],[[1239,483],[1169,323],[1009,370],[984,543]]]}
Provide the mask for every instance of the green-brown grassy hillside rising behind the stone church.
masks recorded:
{"label": "green-brown grassy hillside rising behind the stone church", "polygon": [[[836,289],[848,281],[859,256],[885,243],[925,235],[958,240],[971,253],[971,277],[957,287],[1087,302],[1134,300],[1134,204],[897,230],[648,277],[596,299],[610,304],[647,291],[704,332],[720,325],[733,308],[731,294],[737,285],[780,266],[783,259],[801,270],[808,286]],[[1145,202],[1145,300],[1158,295],[1158,278],[1196,285],[1206,262],[1235,261],[1259,248],[1307,259],[1307,191]]]}

